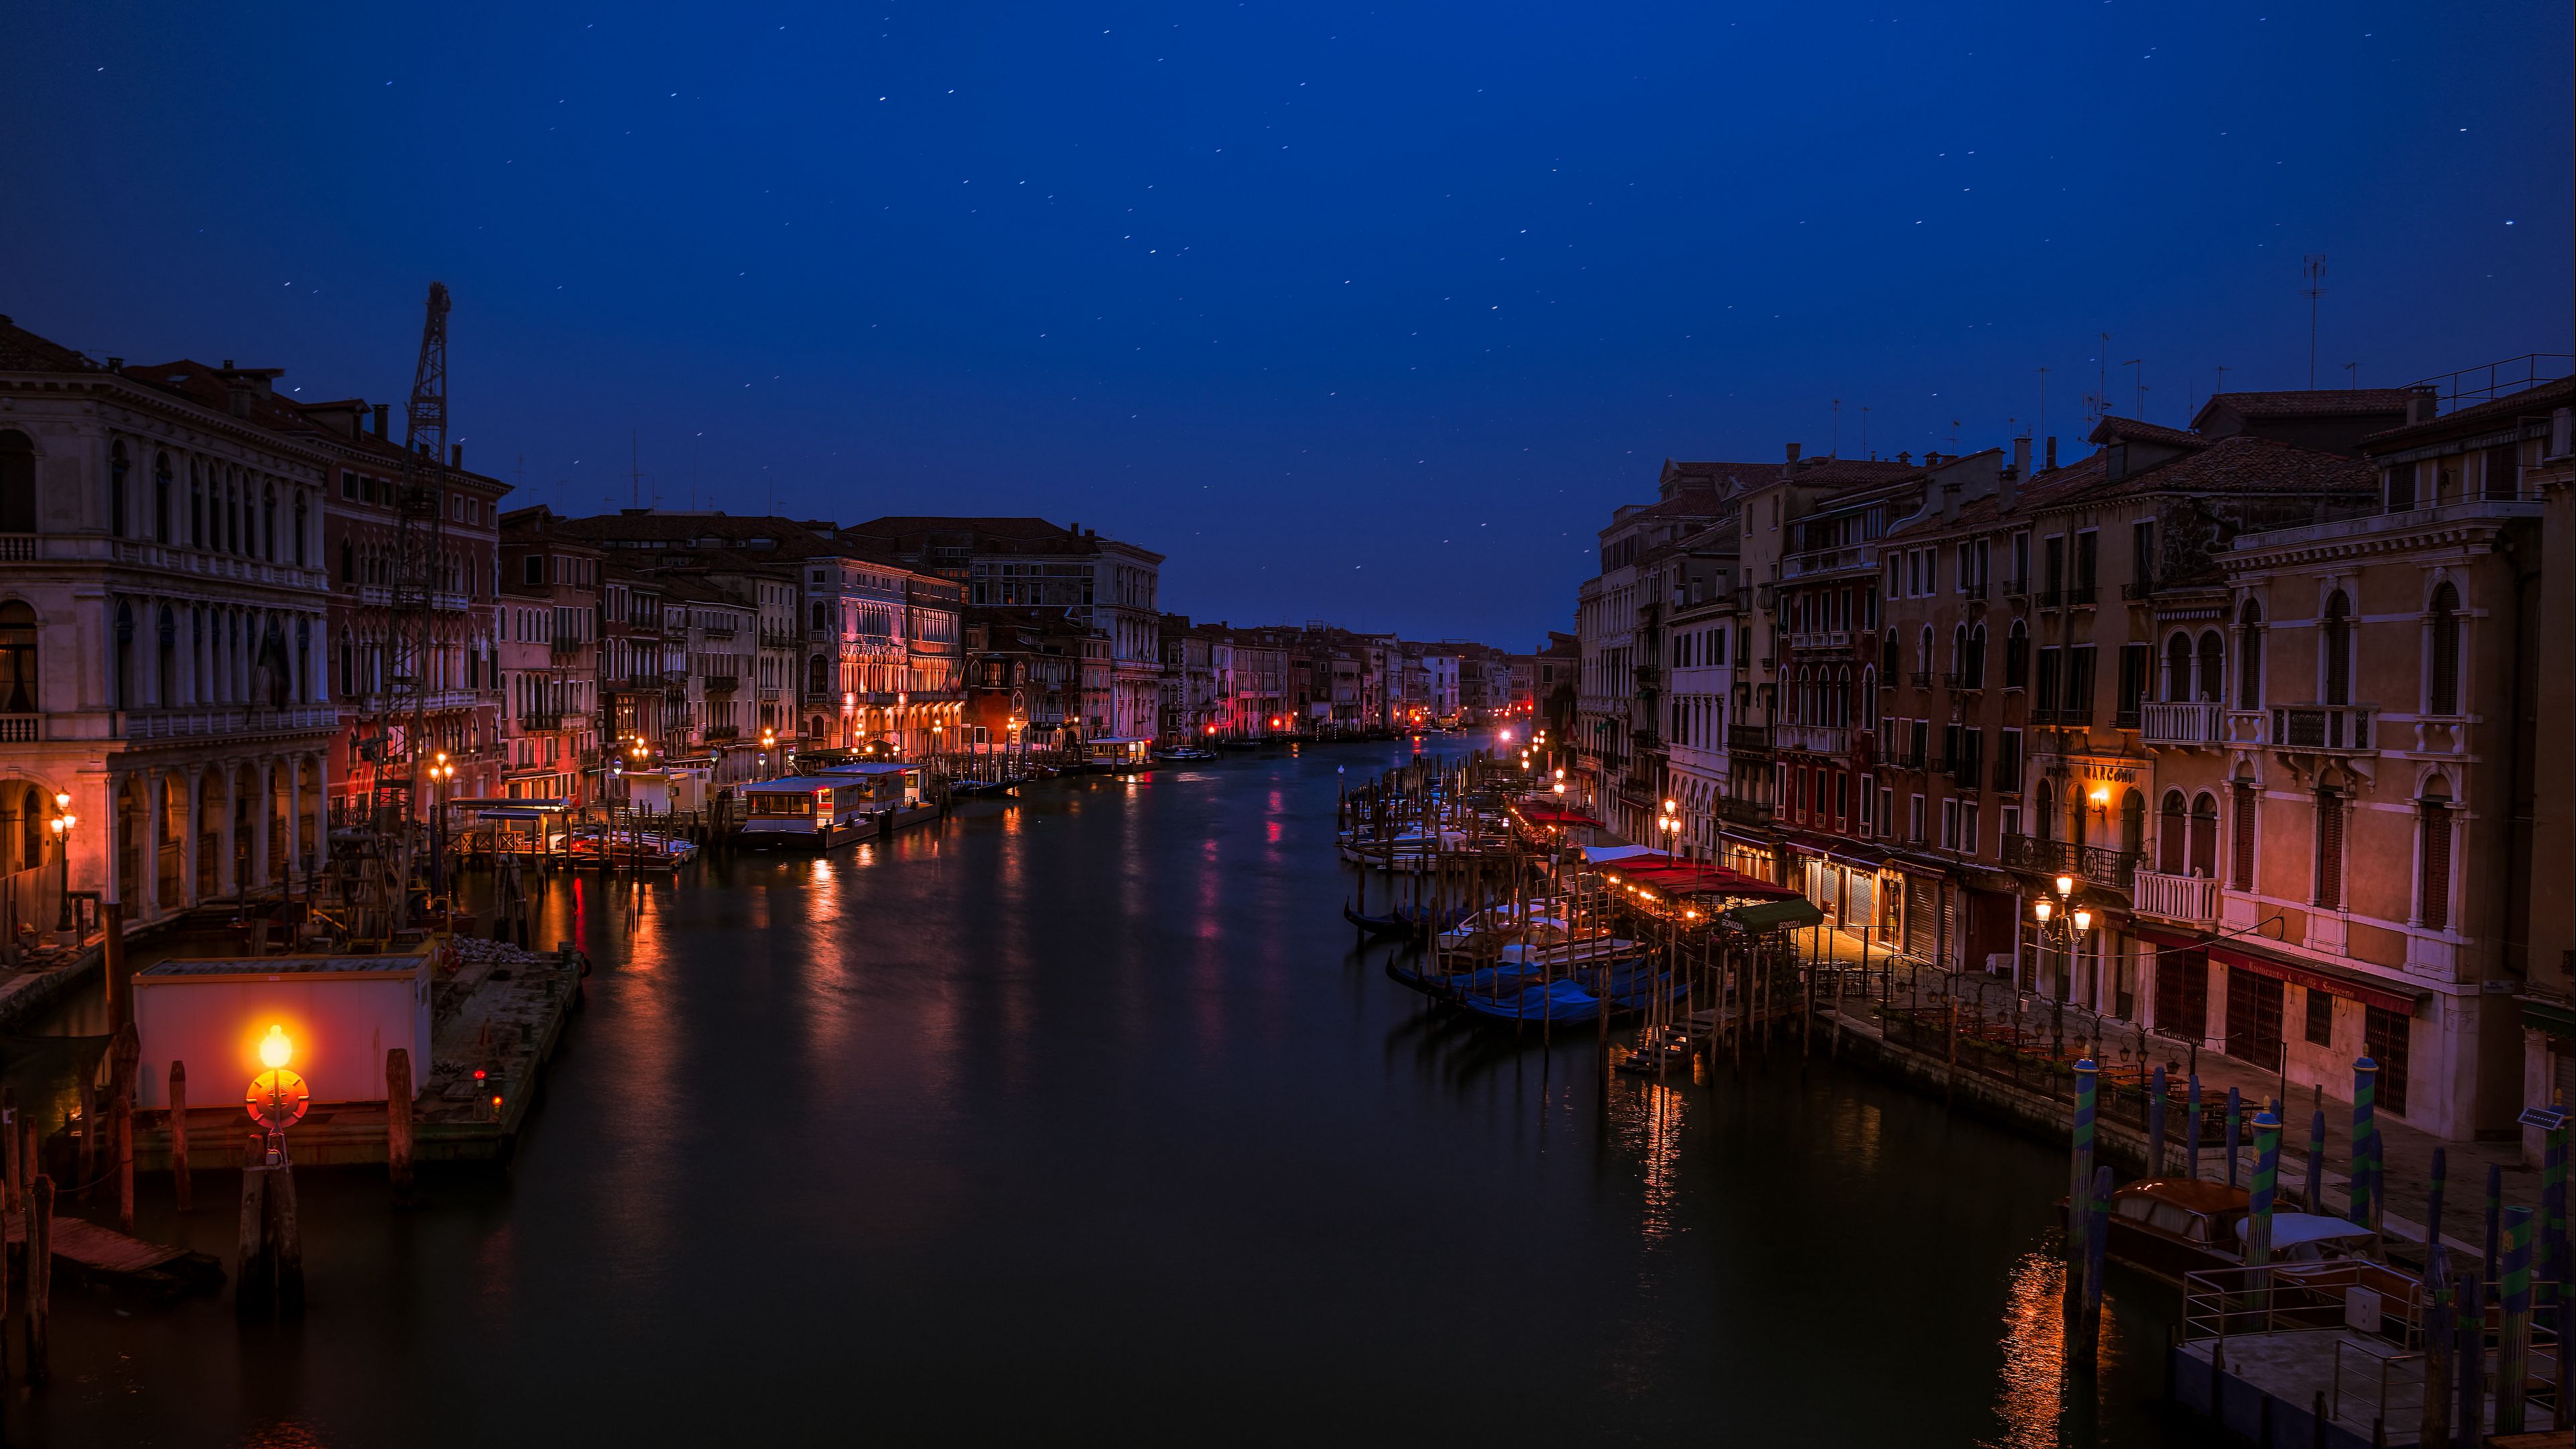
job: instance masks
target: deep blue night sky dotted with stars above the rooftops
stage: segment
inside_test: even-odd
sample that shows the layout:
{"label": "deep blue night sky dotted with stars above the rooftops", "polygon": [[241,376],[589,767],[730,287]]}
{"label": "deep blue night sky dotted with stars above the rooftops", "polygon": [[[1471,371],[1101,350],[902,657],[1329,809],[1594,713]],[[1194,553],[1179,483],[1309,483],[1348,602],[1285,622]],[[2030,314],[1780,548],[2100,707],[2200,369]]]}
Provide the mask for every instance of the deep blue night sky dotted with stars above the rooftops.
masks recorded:
{"label": "deep blue night sky dotted with stars above the rooftops", "polygon": [[2306,253],[2329,387],[2576,315],[2563,0],[82,3],[8,49],[36,333],[399,415],[440,278],[515,503],[629,503],[634,436],[670,508],[1072,518],[1236,624],[1530,647],[1667,454],[2002,443],[2043,366],[2069,451],[2105,376],[2177,425],[2303,387]]}

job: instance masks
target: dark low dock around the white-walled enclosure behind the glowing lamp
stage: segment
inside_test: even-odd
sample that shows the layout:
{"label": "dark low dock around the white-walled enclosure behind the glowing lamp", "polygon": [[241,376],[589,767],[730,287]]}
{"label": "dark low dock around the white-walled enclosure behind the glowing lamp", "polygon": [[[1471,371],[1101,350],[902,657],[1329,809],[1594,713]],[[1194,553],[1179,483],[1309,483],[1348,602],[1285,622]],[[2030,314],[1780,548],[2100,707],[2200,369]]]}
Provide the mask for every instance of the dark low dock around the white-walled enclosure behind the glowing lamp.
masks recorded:
{"label": "dark low dock around the white-walled enclosure behind the glowing lamp", "polygon": [[[464,936],[451,949],[456,969],[433,987],[428,1080],[412,1098],[412,1158],[502,1163],[515,1152],[544,1065],[582,1003],[585,962],[580,954]],[[384,1129],[381,1101],[314,1104],[286,1142],[296,1165],[368,1165],[386,1160]],[[232,1168],[255,1132],[240,1098],[191,1106],[188,1158],[198,1168]],[[167,1109],[134,1111],[134,1171],[170,1171]]]}

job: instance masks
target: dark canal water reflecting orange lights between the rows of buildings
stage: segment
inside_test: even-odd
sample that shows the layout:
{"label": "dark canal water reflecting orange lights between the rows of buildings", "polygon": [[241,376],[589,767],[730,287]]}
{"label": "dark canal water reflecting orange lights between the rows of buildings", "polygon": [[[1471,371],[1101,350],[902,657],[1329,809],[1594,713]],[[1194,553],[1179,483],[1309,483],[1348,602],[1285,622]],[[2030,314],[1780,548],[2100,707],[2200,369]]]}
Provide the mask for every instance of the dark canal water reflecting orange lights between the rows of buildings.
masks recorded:
{"label": "dark canal water reflecting orange lights between the rows of buildings", "polygon": [[[1443,743],[1463,745],[1463,743]],[[1780,1049],[1600,1085],[1355,949],[1406,745],[1033,786],[886,848],[556,882],[598,962],[505,1171],[307,1173],[312,1307],[64,1292],[36,1444],[2179,1444],[2063,1150]],[[229,1258],[232,1176],[139,1227]]]}

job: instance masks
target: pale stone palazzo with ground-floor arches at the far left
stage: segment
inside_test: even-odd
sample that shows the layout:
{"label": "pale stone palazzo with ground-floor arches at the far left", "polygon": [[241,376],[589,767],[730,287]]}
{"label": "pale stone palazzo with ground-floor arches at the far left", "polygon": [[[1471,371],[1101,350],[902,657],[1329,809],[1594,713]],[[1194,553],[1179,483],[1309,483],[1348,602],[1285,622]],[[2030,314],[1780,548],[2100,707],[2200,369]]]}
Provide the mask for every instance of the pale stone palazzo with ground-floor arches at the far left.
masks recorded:
{"label": "pale stone palazzo with ground-floor arches at the far left", "polygon": [[98,364],[0,317],[10,946],[54,926],[46,864],[155,920],[330,853],[332,464],[276,376]]}

